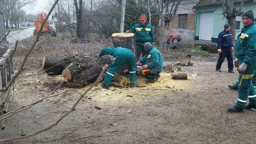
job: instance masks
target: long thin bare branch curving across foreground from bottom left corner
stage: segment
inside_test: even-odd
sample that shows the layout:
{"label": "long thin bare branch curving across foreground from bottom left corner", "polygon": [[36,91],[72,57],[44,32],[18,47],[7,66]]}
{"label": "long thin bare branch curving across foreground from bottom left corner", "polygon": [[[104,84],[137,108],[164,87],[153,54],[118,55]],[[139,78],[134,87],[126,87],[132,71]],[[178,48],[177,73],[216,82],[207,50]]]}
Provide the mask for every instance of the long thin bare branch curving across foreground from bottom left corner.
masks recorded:
{"label": "long thin bare branch curving across foreground from bottom left corner", "polygon": [[[57,1],[57,0],[56,0]],[[58,123],[63,119],[65,118],[67,115],[69,115],[71,112],[73,112],[75,109],[75,107],[78,105],[78,103],[83,99],[83,97],[86,95],[86,93],[88,91],[90,91],[98,82],[101,81],[101,77],[103,76],[105,70],[109,67],[109,65],[104,65],[102,70],[101,70],[101,73],[98,77],[98,79],[86,90],[84,91],[81,95],[80,95],[80,98],[76,101],[76,103],[73,104],[73,106],[71,107],[71,109],[64,115],[62,115],[54,124],[51,124],[49,125],[48,127],[44,128],[44,129],[41,129],[41,130],[38,130],[36,131],[35,133],[33,134],[29,134],[29,135],[26,135],[26,136],[16,136],[16,137],[13,137],[13,138],[8,138],[8,139],[0,139],[0,143],[1,142],[7,142],[7,141],[12,141],[12,140],[17,140],[17,139],[25,139],[25,138],[29,138],[31,136],[35,136],[37,134],[40,134],[44,131],[47,131],[49,129],[51,129],[52,127],[58,125]]]}

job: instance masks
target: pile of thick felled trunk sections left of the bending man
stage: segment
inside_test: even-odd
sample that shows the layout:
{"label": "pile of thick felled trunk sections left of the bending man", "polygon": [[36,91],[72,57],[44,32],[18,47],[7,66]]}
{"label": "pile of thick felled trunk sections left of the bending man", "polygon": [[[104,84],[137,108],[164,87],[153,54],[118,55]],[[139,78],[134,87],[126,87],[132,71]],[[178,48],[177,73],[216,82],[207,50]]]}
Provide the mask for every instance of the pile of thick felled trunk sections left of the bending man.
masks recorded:
{"label": "pile of thick felled trunk sections left of the bending man", "polygon": [[98,78],[105,64],[111,64],[109,55],[102,58],[78,55],[57,58],[45,56],[42,68],[45,69],[47,75],[62,75],[68,80],[68,87],[82,87]]}

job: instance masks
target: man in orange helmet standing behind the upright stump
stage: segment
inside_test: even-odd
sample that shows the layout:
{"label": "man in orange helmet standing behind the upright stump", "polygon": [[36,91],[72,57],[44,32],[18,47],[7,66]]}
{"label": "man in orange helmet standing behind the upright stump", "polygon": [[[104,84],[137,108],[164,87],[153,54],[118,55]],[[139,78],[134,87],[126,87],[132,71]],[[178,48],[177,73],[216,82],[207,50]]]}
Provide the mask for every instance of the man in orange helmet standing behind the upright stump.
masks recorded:
{"label": "man in orange helmet standing behind the upright stump", "polygon": [[136,59],[138,60],[141,56],[146,55],[146,51],[143,47],[145,42],[150,42],[155,46],[155,31],[151,25],[147,25],[147,17],[145,14],[141,14],[138,18],[140,23],[134,25],[131,30],[127,30],[125,33],[135,33],[136,34]]}

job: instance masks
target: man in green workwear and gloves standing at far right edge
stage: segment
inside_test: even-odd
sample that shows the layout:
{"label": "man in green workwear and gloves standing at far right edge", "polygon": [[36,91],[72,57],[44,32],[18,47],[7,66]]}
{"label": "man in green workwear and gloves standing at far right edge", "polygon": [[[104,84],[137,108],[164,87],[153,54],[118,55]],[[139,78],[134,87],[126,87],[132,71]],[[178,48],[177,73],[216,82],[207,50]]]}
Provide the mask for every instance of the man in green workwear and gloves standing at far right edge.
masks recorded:
{"label": "man in green workwear and gloves standing at far right edge", "polygon": [[[256,91],[252,78],[256,71],[256,25],[253,23],[252,10],[242,15],[243,28],[238,35],[234,55],[238,61],[235,64],[239,73],[238,100],[236,105],[228,108],[228,112],[243,112],[244,109],[256,109]],[[249,104],[246,105],[249,98]]]}

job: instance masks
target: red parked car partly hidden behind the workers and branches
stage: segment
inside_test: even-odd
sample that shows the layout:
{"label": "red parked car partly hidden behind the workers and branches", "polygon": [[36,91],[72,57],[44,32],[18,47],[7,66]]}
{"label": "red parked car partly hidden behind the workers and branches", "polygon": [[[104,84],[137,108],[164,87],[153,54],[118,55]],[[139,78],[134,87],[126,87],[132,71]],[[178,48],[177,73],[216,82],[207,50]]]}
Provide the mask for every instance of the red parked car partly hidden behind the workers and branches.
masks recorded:
{"label": "red parked car partly hidden behind the workers and branches", "polygon": [[[159,34],[161,33],[161,34]],[[180,34],[176,34],[176,33],[172,33],[169,31],[164,31],[164,32],[159,32],[155,34],[155,38],[156,38],[156,43],[160,43],[160,42],[166,42],[166,43],[178,43],[180,41],[182,41],[182,35]],[[160,35],[160,37],[158,36]]]}

